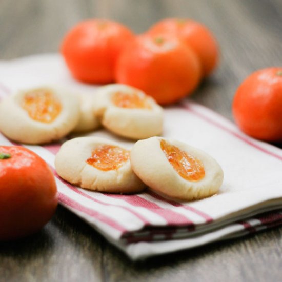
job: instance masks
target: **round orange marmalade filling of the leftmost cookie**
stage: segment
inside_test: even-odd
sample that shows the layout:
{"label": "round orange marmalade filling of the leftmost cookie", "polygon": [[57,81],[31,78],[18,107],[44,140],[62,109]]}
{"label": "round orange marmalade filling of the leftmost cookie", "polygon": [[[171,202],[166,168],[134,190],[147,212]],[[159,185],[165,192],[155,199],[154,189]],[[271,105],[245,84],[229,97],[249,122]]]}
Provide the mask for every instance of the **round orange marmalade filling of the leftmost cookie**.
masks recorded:
{"label": "round orange marmalade filling of the leftmost cookie", "polygon": [[32,119],[47,124],[53,122],[62,110],[61,103],[48,89],[34,89],[26,92],[22,108]]}

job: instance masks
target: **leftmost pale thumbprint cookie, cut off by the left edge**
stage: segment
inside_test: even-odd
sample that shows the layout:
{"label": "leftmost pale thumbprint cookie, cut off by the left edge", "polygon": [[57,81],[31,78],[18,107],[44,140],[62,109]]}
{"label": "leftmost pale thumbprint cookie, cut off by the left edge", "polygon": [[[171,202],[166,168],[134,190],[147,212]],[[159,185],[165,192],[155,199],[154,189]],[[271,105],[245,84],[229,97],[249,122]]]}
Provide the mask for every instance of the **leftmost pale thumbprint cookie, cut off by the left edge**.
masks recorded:
{"label": "leftmost pale thumbprint cookie, cut off by the left edge", "polygon": [[18,91],[0,103],[0,130],[22,143],[42,144],[62,138],[78,118],[76,95],[58,87]]}

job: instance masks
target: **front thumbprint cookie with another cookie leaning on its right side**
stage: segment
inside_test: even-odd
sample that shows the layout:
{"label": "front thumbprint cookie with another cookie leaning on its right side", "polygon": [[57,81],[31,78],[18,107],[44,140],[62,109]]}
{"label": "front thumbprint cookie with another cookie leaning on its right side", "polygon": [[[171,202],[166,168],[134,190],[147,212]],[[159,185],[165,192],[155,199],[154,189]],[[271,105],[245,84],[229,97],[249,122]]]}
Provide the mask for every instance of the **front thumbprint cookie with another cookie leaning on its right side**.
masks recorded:
{"label": "front thumbprint cookie with another cookie leaning on its right side", "polygon": [[65,142],[55,158],[59,176],[100,192],[135,193],[145,184],[132,171],[130,151],[99,137],[78,137]]}

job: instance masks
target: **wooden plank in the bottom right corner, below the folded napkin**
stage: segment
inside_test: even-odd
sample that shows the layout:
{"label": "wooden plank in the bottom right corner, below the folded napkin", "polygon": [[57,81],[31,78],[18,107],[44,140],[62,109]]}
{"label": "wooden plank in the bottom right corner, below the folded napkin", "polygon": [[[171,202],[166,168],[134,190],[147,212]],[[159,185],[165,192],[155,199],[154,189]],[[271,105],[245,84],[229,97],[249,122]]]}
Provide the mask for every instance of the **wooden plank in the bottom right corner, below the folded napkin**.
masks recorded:
{"label": "wooden plank in the bottom right corner, below the folded napkin", "polygon": [[109,281],[280,281],[282,228],[132,263],[107,246]]}

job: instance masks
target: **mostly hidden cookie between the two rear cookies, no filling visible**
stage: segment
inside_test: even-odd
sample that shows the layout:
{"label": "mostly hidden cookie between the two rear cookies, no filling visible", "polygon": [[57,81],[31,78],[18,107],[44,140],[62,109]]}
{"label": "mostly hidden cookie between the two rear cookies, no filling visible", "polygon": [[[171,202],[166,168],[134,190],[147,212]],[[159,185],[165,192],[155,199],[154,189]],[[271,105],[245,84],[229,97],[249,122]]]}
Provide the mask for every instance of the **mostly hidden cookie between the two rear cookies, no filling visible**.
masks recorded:
{"label": "mostly hidden cookie between the two rear cookies, no filling visible", "polygon": [[76,127],[72,132],[82,133],[87,131],[96,130],[100,126],[99,119],[93,112],[93,96],[81,95],[80,99],[80,114]]}

